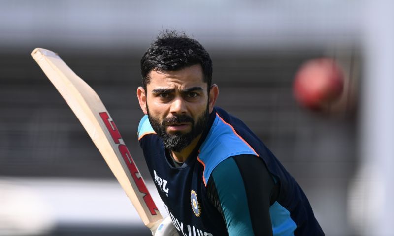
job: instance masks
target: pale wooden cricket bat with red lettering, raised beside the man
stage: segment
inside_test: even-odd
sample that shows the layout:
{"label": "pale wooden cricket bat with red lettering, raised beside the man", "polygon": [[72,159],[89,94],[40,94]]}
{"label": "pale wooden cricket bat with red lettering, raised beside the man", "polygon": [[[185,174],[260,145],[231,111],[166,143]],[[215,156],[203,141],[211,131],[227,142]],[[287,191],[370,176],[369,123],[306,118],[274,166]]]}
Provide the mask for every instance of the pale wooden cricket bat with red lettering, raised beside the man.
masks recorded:
{"label": "pale wooden cricket bat with red lettering, raised beside the man", "polygon": [[36,48],[32,57],[81,121],[145,226],[155,234],[163,218],[97,93],[56,53]]}

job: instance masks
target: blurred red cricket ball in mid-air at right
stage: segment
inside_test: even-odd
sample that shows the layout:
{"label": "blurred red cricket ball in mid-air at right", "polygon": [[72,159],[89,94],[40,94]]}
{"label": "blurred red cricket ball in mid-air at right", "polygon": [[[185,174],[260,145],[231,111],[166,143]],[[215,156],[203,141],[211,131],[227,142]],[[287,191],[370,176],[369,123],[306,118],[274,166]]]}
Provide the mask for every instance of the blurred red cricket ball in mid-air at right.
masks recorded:
{"label": "blurred red cricket ball in mid-air at right", "polygon": [[344,74],[331,58],[317,58],[305,62],[296,73],[293,92],[304,107],[321,110],[338,99],[343,91]]}

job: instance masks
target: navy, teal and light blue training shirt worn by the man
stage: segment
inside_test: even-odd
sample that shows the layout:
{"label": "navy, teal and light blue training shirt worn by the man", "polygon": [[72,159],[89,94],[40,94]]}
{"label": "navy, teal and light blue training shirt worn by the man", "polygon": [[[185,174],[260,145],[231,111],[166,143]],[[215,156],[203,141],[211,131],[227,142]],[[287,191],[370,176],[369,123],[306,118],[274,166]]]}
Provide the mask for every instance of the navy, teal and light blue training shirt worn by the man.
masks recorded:
{"label": "navy, teal and light blue training shirt worn by the man", "polygon": [[293,177],[238,118],[215,108],[175,167],[147,116],[138,139],[175,228],[184,236],[323,236]]}

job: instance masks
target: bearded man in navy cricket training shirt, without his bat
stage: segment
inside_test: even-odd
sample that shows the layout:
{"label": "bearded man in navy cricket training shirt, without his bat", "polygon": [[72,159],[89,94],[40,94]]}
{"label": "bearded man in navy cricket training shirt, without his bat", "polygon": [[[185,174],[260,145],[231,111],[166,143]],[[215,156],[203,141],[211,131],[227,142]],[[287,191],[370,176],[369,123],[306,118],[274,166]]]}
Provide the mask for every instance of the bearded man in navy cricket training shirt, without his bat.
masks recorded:
{"label": "bearded man in navy cricket training shirt, without his bat", "polygon": [[324,235],[293,177],[241,120],[214,106],[219,89],[201,44],[162,33],[141,74],[138,139],[179,235]]}

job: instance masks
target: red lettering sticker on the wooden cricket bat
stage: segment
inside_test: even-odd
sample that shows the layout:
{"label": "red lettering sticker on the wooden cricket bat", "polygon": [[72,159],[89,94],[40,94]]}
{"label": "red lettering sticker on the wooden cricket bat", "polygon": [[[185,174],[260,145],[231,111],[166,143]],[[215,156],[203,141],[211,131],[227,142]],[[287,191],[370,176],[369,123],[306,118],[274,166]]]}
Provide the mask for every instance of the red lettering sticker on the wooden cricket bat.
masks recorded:
{"label": "red lettering sticker on the wooden cricket bat", "polygon": [[[109,120],[109,115],[107,112],[100,112],[99,114],[102,120],[104,121],[105,126],[107,127],[109,133],[111,134],[113,141],[116,144],[119,144],[120,143],[119,139],[121,139],[122,137],[118,129],[116,128],[114,121]],[[132,159],[129,150],[123,144],[119,144],[118,148],[123,157],[123,160],[125,161],[130,171],[131,177],[134,179],[134,182],[137,185],[138,190],[141,193],[145,194],[143,199],[146,206],[149,208],[149,211],[151,212],[152,215],[156,215],[157,214],[156,210],[158,210],[158,208],[156,207],[155,202],[153,202],[152,196],[149,194],[148,189],[146,188],[145,183],[139,174],[137,166],[134,164],[134,160]]]}

